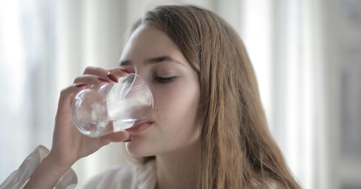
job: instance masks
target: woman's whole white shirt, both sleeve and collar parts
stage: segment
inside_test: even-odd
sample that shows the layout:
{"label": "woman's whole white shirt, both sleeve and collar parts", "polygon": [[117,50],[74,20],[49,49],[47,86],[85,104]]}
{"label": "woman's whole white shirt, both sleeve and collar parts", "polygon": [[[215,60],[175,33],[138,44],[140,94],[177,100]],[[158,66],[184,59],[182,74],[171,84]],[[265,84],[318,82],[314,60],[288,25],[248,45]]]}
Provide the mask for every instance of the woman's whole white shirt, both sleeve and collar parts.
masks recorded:
{"label": "woman's whole white shirt, both sleeve and collar parts", "polygon": [[[20,167],[15,170],[0,185],[0,189],[23,188],[36,167],[40,164],[49,149],[43,145],[34,148],[25,158]],[[86,182],[83,188],[101,189],[154,189],[156,186],[155,160],[145,165],[117,165],[108,168],[106,171],[93,176]],[[69,168],[58,180],[53,189],[74,189],[78,184],[78,178],[72,168]]]}

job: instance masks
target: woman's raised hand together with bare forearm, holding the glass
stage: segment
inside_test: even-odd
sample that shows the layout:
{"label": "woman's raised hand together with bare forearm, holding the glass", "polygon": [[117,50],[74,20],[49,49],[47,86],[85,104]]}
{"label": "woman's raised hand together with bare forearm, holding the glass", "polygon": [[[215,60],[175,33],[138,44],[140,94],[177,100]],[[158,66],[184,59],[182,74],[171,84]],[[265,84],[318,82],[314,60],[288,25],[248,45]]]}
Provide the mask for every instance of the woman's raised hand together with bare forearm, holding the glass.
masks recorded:
{"label": "woman's raised hand together with bare forearm, holding the glass", "polygon": [[71,116],[71,103],[79,91],[90,88],[92,85],[103,85],[105,82],[117,82],[117,76],[126,76],[129,74],[127,72],[129,71],[122,71],[121,68],[106,70],[97,67],[87,67],[83,75],[75,79],[73,85],[61,91],[55,117],[51,150],[40,162],[23,189],[53,188],[60,177],[78,159],[94,153],[110,142],[132,139],[125,131],[115,132],[100,138],[87,137],[78,131]]}

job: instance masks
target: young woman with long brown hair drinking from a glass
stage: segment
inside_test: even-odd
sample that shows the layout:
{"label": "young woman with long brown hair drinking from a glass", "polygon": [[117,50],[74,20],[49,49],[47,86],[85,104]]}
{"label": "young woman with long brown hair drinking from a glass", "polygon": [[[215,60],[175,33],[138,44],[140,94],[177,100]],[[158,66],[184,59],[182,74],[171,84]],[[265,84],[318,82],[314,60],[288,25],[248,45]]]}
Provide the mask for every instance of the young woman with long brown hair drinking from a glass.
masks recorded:
{"label": "young woman with long brown hair drinking from a glass", "polygon": [[[119,141],[143,163],[113,167],[85,188],[300,188],[270,135],[244,45],[227,22],[195,6],[158,6],[130,34],[118,68],[88,67],[62,90],[52,148],[24,188],[74,188],[71,165]],[[71,118],[74,95],[130,72],[154,96],[147,127],[82,135]]]}

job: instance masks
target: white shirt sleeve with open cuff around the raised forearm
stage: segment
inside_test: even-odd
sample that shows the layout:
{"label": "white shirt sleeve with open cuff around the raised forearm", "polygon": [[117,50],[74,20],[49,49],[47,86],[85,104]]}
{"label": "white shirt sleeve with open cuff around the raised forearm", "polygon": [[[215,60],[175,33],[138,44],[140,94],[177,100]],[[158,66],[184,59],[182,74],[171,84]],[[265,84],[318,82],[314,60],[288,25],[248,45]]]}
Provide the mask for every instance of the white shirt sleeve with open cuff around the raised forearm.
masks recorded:
{"label": "white shirt sleeve with open cuff around the raised forearm", "polygon": [[[0,185],[0,189],[23,188],[36,168],[39,166],[40,162],[48,153],[48,148],[43,145],[38,145],[25,158],[20,167],[5,179],[5,181]],[[74,189],[77,184],[77,175],[72,168],[69,168],[69,170],[60,177],[53,189]]]}

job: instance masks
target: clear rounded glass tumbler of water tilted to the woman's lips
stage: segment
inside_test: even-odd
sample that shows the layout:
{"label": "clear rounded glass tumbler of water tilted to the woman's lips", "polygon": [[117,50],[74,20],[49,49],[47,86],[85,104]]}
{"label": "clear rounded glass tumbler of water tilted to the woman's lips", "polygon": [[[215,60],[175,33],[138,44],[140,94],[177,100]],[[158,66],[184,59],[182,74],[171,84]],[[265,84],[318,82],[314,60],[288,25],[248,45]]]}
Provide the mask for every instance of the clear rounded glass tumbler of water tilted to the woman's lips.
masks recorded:
{"label": "clear rounded glass tumbler of water tilted to the woman's lips", "polygon": [[99,137],[147,122],[153,111],[153,95],[148,84],[135,73],[80,91],[71,111],[82,134]]}

